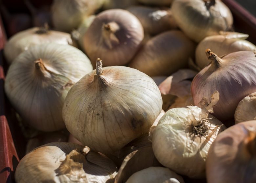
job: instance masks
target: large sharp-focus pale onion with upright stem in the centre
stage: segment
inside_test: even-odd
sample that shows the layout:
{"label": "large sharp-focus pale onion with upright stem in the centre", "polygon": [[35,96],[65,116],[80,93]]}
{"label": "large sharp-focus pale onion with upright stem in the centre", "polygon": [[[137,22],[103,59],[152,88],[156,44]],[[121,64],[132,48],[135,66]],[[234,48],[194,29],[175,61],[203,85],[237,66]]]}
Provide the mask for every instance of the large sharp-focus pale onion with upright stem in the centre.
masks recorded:
{"label": "large sharp-focus pale onion with upright stem in the centre", "polygon": [[85,75],[68,92],[63,120],[69,132],[91,149],[112,153],[148,132],[161,112],[162,98],[155,82],[124,66]]}

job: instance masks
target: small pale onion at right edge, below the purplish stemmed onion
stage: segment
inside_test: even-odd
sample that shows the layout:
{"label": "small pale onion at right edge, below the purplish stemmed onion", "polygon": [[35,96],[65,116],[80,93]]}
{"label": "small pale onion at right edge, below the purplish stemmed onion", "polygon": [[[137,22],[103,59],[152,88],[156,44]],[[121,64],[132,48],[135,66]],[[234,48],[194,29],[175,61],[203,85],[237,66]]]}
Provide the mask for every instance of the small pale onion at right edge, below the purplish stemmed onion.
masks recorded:
{"label": "small pale onion at right edge, below the purplish stemmed onion", "polygon": [[235,111],[235,123],[256,120],[256,92],[241,100]]}

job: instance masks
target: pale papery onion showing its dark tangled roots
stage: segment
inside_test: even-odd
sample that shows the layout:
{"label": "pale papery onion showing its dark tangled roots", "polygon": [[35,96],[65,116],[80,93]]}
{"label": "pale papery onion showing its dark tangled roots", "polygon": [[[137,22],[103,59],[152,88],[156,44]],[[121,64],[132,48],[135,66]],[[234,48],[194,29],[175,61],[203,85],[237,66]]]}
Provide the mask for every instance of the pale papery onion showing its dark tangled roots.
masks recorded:
{"label": "pale papery onion showing its dark tangled roots", "polygon": [[[215,97],[218,98],[216,93],[207,108],[215,105]],[[163,166],[191,178],[205,176],[209,148],[224,130],[223,124],[208,114],[207,108],[173,108],[163,115],[152,138],[153,152]]]}

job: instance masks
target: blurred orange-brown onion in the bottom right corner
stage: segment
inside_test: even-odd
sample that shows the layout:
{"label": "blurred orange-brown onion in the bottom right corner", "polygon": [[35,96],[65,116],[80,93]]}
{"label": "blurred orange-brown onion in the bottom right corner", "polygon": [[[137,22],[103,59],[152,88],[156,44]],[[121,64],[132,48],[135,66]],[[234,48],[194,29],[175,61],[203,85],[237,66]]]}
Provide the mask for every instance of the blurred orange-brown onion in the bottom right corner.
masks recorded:
{"label": "blurred orange-brown onion in the bottom right corner", "polygon": [[217,137],[206,160],[208,183],[256,182],[255,133],[256,120],[252,120],[233,125]]}

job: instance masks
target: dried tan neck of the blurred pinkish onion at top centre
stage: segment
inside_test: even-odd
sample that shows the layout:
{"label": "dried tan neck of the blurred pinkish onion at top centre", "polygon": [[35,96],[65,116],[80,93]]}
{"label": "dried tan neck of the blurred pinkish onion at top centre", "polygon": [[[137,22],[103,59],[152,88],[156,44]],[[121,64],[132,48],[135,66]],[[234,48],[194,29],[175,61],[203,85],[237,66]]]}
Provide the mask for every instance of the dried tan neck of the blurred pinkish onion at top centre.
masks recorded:
{"label": "dried tan neck of the blurred pinkish onion at top centre", "polygon": [[116,22],[102,25],[102,38],[109,49],[112,49],[120,43],[115,34],[119,29],[120,27]]}

